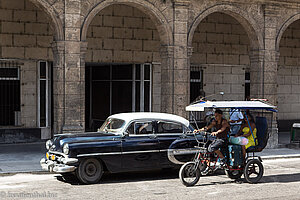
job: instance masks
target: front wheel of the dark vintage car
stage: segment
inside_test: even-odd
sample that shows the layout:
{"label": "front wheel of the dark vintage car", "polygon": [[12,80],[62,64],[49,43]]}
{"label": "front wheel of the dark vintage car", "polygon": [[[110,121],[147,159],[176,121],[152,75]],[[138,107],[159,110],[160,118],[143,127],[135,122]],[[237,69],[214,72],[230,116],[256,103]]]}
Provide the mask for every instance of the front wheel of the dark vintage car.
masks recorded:
{"label": "front wheel of the dark vintage car", "polygon": [[98,183],[102,174],[103,166],[101,162],[95,158],[81,161],[76,170],[77,178],[85,184]]}

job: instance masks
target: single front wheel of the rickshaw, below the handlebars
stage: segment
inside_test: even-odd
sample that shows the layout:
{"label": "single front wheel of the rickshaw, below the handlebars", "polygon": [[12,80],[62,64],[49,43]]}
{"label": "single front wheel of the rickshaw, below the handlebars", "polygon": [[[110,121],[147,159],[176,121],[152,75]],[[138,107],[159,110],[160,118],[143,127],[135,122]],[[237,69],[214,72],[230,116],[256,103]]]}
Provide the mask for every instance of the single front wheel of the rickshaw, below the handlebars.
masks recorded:
{"label": "single front wheel of the rickshaw, below the handlebars", "polygon": [[187,187],[194,186],[200,179],[201,172],[196,162],[187,162],[179,170],[179,179]]}

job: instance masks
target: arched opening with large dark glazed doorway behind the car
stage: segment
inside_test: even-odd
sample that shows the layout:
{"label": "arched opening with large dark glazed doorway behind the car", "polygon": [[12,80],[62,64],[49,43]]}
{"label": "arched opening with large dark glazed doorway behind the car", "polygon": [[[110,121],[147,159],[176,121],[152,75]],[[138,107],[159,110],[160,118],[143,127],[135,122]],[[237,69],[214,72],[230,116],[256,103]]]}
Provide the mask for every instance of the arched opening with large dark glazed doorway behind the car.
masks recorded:
{"label": "arched opening with large dark glazed doorway behind the car", "polygon": [[159,50],[169,41],[156,23],[134,4],[111,4],[89,24],[86,130],[96,130],[111,114],[160,111]]}

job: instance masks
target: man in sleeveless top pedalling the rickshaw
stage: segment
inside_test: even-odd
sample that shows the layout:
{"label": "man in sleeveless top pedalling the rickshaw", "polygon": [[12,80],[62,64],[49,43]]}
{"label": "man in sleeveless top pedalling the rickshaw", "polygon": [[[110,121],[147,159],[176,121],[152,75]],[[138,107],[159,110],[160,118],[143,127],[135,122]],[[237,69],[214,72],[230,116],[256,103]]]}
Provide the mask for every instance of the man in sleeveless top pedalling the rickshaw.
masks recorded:
{"label": "man in sleeveless top pedalling the rickshaw", "polygon": [[212,121],[211,124],[199,130],[195,130],[195,132],[207,131],[213,127],[216,128],[216,131],[212,132],[211,135],[216,136],[217,138],[214,139],[212,143],[208,146],[208,151],[211,153],[217,153],[220,158],[220,164],[224,165],[226,163],[225,157],[220,151],[220,148],[227,146],[227,135],[230,130],[230,125],[228,124],[228,121],[223,118],[223,112],[220,109],[217,109],[215,111],[215,119]]}

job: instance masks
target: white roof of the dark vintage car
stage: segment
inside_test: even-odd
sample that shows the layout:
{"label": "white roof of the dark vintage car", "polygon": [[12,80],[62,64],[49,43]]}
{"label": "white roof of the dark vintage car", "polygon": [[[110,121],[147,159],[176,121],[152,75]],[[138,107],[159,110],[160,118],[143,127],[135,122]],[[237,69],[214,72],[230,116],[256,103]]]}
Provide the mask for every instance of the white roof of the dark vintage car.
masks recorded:
{"label": "white roof of the dark vintage car", "polygon": [[156,120],[166,120],[166,121],[175,121],[189,126],[189,121],[178,115],[168,114],[168,113],[155,113],[155,112],[133,112],[133,113],[120,113],[109,116],[109,118],[122,119],[126,123],[132,120],[139,119],[156,119]]}

